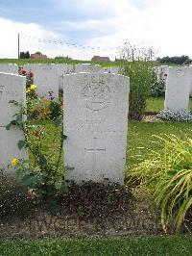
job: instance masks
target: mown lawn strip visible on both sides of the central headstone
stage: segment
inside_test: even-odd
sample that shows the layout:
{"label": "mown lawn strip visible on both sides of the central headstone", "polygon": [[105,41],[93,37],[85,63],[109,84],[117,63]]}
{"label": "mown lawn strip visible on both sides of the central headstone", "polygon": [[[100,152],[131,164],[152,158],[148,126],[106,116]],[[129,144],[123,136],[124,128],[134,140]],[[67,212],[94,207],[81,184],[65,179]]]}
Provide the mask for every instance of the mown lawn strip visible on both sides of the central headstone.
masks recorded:
{"label": "mown lawn strip visible on both sides of the central headstone", "polygon": [[[45,145],[47,155],[51,155],[54,160],[57,160],[57,148],[59,148],[60,141],[59,128],[55,127],[51,121],[35,121],[34,123],[42,125],[46,129],[47,133],[42,142]],[[149,150],[161,148],[162,143],[155,143],[154,141],[158,140],[154,136],[164,136],[165,134],[174,134],[180,136],[180,138],[184,136],[191,137],[191,122],[129,121],[127,147],[128,170],[131,170],[132,165],[144,160],[148,156]]]}

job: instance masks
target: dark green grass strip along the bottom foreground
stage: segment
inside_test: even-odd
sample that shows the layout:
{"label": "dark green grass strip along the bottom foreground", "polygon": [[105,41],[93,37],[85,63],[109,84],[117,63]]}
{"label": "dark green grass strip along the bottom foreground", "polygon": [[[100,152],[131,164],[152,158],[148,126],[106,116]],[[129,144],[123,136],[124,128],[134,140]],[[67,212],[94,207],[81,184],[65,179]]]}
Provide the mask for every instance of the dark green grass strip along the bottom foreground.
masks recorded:
{"label": "dark green grass strip along the bottom foreground", "polygon": [[191,236],[0,242],[1,256],[20,255],[191,255]]}

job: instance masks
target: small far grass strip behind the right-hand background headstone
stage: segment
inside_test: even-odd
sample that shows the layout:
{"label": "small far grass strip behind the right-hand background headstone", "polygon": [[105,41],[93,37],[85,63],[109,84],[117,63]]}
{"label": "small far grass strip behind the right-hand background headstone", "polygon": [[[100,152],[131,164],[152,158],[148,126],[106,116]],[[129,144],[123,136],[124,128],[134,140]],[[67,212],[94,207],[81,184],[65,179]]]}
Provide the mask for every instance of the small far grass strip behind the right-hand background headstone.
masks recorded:
{"label": "small far grass strip behind the right-hand background headstone", "polygon": [[[146,113],[158,113],[164,109],[164,97],[149,97],[147,99]],[[189,109],[192,111],[192,98],[189,100]]]}

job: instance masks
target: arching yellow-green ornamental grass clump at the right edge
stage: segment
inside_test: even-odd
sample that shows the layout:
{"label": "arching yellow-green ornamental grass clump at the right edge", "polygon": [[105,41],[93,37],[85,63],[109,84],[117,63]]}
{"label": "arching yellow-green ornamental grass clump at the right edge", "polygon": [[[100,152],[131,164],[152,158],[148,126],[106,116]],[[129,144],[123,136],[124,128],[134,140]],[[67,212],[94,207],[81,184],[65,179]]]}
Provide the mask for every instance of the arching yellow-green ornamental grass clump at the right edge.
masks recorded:
{"label": "arching yellow-green ornamental grass clump at the right edge", "polygon": [[158,138],[163,148],[132,168],[131,181],[146,188],[160,209],[161,224],[180,230],[186,217],[192,218],[192,139],[174,135]]}

